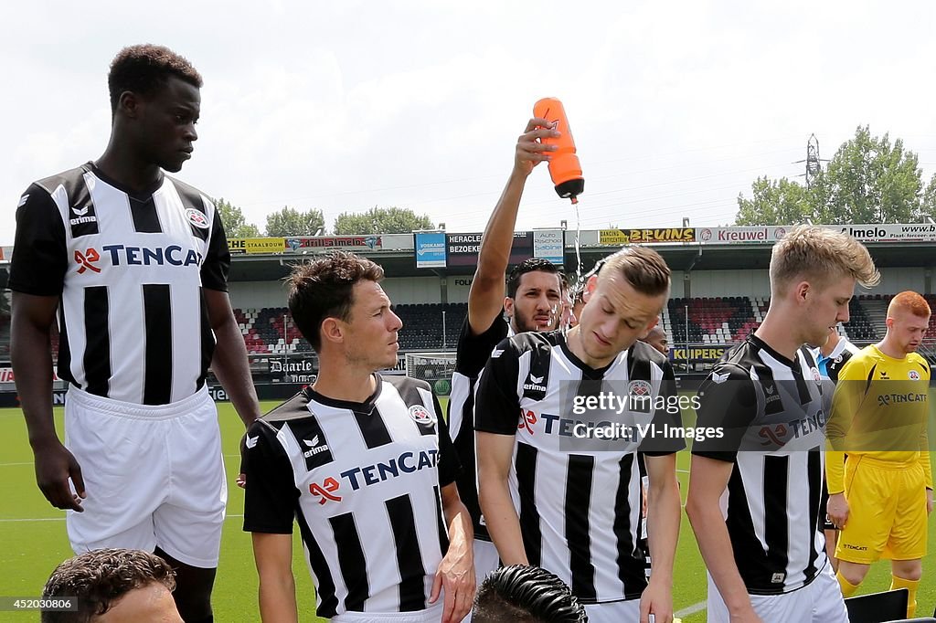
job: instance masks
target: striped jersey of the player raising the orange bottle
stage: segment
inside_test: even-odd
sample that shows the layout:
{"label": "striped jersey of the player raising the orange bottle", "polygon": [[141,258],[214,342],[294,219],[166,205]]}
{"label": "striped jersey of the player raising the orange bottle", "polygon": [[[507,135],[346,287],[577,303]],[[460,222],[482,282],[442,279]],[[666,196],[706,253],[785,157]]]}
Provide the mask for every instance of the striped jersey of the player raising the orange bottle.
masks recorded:
{"label": "striped jersey of the player raising the orange bottle", "polygon": [[490,541],[488,529],[481,519],[477,501],[477,460],[475,456],[475,387],[477,377],[488,362],[490,352],[507,337],[510,326],[498,317],[487,331],[475,335],[465,316],[452,373],[452,390],[448,397],[448,430],[464,470],[458,479],[459,495],[475,527],[475,539]]}

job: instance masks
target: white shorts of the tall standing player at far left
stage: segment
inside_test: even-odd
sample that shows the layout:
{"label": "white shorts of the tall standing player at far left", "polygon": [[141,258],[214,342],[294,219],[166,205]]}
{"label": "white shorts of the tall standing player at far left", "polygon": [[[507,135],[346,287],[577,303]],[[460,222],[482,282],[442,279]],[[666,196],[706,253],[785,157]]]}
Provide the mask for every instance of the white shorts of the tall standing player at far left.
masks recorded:
{"label": "white shorts of the tall standing player at far left", "polygon": [[83,513],[66,513],[72,549],[159,547],[193,567],[217,567],[227,482],[208,387],[155,407],[71,387],[65,414],[66,447],[88,495]]}

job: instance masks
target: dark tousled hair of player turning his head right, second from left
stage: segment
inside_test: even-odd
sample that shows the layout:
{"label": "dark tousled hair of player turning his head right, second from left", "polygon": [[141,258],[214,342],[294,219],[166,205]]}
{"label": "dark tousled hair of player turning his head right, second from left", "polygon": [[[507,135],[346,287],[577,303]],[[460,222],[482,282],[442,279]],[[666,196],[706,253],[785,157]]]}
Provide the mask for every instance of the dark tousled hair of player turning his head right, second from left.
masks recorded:
{"label": "dark tousled hair of player turning his head right, second from left", "polygon": [[347,251],[334,251],[293,267],[286,277],[289,312],[315,352],[322,347],[318,331],[326,318],[348,320],[354,304],[355,283],[383,279],[383,268]]}

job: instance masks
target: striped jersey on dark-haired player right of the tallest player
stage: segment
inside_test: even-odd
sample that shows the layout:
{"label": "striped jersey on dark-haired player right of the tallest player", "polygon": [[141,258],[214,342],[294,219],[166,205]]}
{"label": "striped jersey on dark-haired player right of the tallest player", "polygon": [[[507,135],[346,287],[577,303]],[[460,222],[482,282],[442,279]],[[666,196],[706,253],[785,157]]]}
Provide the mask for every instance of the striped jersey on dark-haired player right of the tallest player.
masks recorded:
{"label": "striped jersey on dark-haired player right of the tallest player", "polygon": [[318,616],[424,610],[459,470],[429,384],[375,375],[363,403],[307,388],[247,433],[243,529],[299,525]]}

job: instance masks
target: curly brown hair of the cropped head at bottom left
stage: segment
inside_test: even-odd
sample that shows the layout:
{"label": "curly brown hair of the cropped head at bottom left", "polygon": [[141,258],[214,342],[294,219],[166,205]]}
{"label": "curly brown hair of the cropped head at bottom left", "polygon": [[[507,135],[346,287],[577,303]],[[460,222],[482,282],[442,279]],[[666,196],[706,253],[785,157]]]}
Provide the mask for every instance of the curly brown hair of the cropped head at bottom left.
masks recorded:
{"label": "curly brown hair of the cropped head at bottom left", "polygon": [[55,568],[42,597],[77,597],[78,612],[43,612],[42,623],[87,623],[110,610],[115,601],[136,588],[158,583],[170,592],[175,572],[168,563],[139,549],[95,549],[68,558]]}

